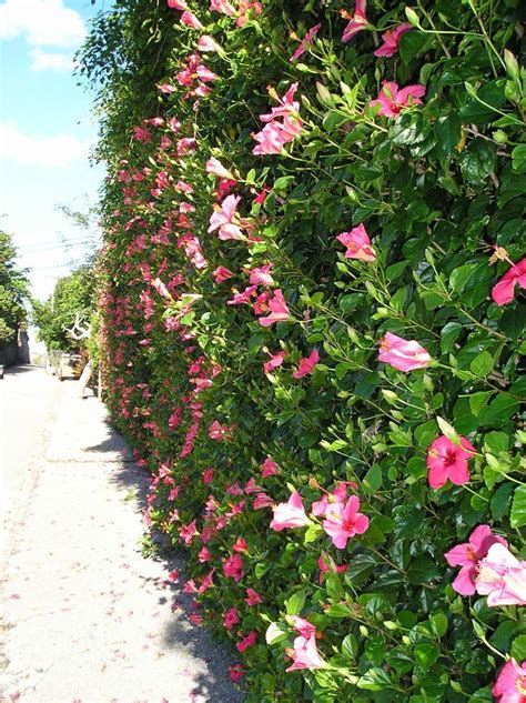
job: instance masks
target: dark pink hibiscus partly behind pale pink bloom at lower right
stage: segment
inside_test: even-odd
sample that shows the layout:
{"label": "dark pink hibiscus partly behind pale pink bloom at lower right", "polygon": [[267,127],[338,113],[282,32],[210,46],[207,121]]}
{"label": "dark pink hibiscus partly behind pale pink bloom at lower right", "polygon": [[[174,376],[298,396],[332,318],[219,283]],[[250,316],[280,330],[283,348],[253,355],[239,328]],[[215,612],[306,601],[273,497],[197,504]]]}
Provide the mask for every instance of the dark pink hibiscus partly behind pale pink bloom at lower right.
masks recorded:
{"label": "dark pink hibiscus partly behind pale pink bloom at lower right", "polygon": [[478,573],[478,562],[486,556],[493,544],[507,546],[505,539],[493,534],[489,525],[478,525],[469,535],[467,542],[457,544],[444,554],[449,566],[462,566],[453,589],[461,595],[475,593],[475,579]]}

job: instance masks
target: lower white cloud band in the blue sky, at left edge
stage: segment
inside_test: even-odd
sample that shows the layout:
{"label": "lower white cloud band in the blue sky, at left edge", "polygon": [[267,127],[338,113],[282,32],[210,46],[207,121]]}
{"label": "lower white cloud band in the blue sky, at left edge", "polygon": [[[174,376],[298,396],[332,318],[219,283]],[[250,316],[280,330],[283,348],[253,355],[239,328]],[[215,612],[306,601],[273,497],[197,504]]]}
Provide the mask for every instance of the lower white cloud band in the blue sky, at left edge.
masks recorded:
{"label": "lower white cloud band in the blue sky, at left edge", "polygon": [[21,165],[65,167],[85,159],[88,145],[71,134],[34,137],[12,122],[0,123],[0,157]]}

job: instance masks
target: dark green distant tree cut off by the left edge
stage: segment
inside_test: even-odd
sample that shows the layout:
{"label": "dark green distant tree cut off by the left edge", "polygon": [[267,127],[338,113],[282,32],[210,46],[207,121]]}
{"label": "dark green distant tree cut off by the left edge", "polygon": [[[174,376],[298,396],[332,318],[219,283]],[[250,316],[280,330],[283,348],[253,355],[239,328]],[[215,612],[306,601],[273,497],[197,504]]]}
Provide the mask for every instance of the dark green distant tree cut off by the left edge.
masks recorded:
{"label": "dark green distant tree cut off by the left edge", "polygon": [[0,231],[0,347],[11,342],[28,318],[30,300],[27,271],[16,262],[12,238]]}

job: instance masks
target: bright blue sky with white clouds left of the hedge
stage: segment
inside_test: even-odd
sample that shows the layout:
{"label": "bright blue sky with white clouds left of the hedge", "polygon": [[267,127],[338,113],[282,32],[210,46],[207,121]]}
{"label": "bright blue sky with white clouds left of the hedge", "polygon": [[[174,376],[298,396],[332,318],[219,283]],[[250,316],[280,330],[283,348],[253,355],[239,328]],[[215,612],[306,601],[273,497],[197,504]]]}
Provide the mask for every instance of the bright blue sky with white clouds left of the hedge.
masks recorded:
{"label": "bright blue sky with white clouds left of the hedge", "polygon": [[97,141],[92,94],[72,76],[72,56],[102,6],[0,0],[0,228],[13,234],[39,299],[85,252],[64,245],[85,237],[57,205],[94,204],[104,175],[88,159]]}

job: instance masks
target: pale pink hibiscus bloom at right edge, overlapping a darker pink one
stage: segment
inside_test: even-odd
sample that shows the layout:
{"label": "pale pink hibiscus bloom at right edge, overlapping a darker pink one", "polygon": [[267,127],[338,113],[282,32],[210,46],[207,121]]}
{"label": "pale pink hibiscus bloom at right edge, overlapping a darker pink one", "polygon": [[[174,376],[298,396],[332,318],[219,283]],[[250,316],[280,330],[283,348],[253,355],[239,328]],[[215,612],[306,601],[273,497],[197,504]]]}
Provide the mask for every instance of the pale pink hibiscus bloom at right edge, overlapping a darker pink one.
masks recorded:
{"label": "pale pink hibiscus bloom at right edge, overlapping a darker pink one", "polygon": [[475,589],[487,595],[489,606],[526,605],[526,561],[519,561],[504,544],[492,544],[478,562]]}

